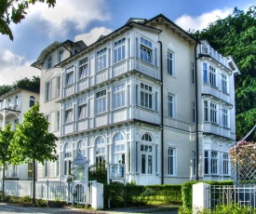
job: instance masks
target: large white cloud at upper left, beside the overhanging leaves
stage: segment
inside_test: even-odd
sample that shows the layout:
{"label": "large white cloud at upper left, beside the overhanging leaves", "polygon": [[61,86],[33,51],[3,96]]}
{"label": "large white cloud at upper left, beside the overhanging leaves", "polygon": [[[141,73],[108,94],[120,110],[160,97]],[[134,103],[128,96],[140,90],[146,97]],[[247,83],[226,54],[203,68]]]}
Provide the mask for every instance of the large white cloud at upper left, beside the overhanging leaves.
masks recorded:
{"label": "large white cloud at upper left, beside the overhanging leaves", "polygon": [[46,20],[47,32],[55,37],[67,33],[68,23],[72,23],[77,31],[83,31],[92,20],[110,20],[110,14],[104,0],[75,0],[75,4],[74,1],[61,0],[54,8],[40,3],[31,6],[26,19]]}

